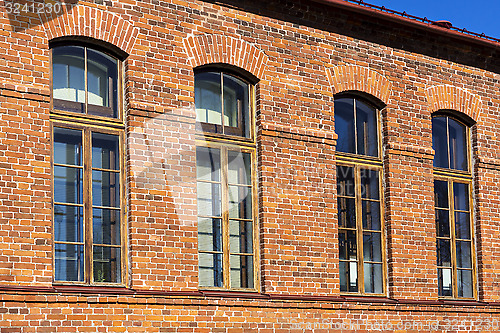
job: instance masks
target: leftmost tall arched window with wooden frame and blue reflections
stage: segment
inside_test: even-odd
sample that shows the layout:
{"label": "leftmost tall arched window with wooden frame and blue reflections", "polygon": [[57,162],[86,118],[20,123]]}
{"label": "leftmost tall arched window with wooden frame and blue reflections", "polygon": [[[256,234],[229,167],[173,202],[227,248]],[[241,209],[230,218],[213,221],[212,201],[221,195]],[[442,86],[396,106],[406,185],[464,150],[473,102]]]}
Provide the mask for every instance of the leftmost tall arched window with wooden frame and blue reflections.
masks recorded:
{"label": "leftmost tall arched window with wooden frame and blue reflections", "polygon": [[78,43],[51,52],[54,282],[124,285],[121,62]]}

